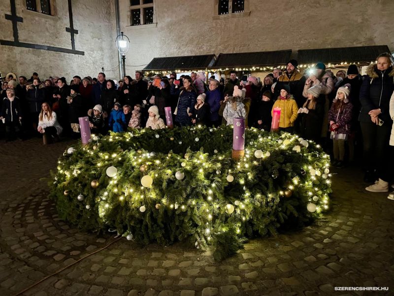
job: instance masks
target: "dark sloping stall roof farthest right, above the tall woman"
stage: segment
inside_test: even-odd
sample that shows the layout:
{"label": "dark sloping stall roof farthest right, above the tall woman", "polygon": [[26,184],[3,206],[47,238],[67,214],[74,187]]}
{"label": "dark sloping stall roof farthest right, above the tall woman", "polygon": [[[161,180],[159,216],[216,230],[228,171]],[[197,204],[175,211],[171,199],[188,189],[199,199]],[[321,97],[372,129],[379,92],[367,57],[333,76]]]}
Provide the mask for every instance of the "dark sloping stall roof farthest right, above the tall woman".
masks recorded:
{"label": "dark sloping stall roof farthest right, above the tall woman", "polygon": [[302,49],[298,50],[297,60],[302,64],[370,63],[383,52],[390,52],[387,45]]}

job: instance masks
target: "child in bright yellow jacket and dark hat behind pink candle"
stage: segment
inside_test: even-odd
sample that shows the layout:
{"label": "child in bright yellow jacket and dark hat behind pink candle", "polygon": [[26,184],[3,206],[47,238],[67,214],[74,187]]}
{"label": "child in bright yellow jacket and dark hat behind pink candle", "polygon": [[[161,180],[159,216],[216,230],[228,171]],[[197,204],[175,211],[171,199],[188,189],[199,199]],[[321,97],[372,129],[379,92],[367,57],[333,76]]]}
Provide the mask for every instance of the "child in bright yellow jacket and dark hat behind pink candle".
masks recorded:
{"label": "child in bright yellow jacket and dark hat behind pink candle", "polygon": [[273,114],[274,108],[281,109],[279,130],[293,133],[294,122],[298,116],[298,106],[293,95],[290,94],[290,86],[288,84],[281,85],[280,95],[272,107],[271,115]]}

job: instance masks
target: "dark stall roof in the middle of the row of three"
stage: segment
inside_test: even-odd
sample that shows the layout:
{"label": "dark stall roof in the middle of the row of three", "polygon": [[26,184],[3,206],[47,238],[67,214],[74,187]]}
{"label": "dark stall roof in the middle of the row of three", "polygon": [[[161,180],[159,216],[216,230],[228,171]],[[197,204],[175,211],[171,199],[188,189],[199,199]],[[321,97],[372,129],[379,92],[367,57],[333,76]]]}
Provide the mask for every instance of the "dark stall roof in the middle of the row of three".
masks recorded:
{"label": "dark stall roof in the middle of the row of three", "polygon": [[220,53],[212,68],[242,68],[285,65],[290,60],[291,54],[291,49],[241,53]]}

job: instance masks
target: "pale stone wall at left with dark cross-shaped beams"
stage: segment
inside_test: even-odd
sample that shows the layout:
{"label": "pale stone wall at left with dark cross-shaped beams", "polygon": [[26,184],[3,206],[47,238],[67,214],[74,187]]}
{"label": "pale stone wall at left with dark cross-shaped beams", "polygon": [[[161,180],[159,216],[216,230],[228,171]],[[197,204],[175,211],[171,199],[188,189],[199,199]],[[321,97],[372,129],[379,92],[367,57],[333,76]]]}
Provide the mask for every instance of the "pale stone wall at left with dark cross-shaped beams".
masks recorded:
{"label": "pale stone wall at left with dark cross-shaped beams", "polygon": [[[69,81],[73,75],[97,76],[104,70],[108,77],[118,78],[119,68],[115,46],[116,21],[114,2],[107,0],[72,0],[75,49],[85,55],[76,55],[48,50],[0,45],[0,72],[8,72],[30,78],[38,72],[41,78],[50,75],[65,76]],[[25,0],[15,0],[16,14],[23,17],[18,22],[20,42],[56,46],[71,49],[67,0],[56,0],[54,16],[26,9]],[[0,39],[13,41],[12,22],[5,19],[10,14],[10,1],[0,1]]]}

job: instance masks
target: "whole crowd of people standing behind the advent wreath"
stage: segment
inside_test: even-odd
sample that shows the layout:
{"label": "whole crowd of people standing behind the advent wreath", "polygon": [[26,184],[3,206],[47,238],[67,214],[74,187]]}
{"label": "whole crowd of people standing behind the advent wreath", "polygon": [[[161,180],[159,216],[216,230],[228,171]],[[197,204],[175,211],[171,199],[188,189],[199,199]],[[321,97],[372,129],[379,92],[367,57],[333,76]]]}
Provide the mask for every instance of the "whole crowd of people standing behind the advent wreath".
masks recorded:
{"label": "whole crowd of people standing behind the advent wreath", "polygon": [[[388,192],[394,166],[394,70],[389,53],[377,57],[361,76],[356,65],[335,75],[323,63],[301,74],[296,60],[274,69],[263,80],[230,72],[229,78],[206,79],[204,72],[151,80],[142,72],[116,86],[104,73],[42,81],[9,74],[2,83],[0,119],[7,141],[42,134],[44,144],[59,135],[80,137],[79,117],[88,116],[92,133],[130,128],[230,125],[245,118],[247,127],[270,130],[272,112],[280,108],[279,130],[313,140],[342,168],[363,150],[364,181],[373,192]],[[18,81],[17,81],[18,78]],[[206,81],[208,83],[206,84]],[[171,108],[168,118],[165,107]],[[390,193],[394,200],[394,193]]]}

